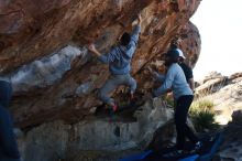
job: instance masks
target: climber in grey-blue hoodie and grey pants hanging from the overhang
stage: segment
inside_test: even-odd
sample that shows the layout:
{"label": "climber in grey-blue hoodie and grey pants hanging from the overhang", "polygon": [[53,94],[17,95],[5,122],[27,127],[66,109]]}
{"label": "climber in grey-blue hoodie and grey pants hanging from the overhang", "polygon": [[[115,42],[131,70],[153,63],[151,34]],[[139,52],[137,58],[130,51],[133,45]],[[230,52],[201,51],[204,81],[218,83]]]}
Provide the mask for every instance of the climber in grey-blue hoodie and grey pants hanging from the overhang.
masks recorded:
{"label": "climber in grey-blue hoodie and grey pants hanging from the overhang", "polygon": [[120,85],[130,87],[130,98],[133,99],[133,94],[136,89],[136,80],[130,75],[131,60],[136,50],[139,34],[141,32],[141,14],[138,17],[138,24],[134,26],[131,34],[124,32],[121,36],[119,45],[113,47],[109,53],[101,54],[94,44],[89,45],[89,50],[106,64],[109,64],[111,73],[110,78],[99,90],[98,97],[106,103],[113,111],[118,110],[118,105],[110,98],[109,94]]}

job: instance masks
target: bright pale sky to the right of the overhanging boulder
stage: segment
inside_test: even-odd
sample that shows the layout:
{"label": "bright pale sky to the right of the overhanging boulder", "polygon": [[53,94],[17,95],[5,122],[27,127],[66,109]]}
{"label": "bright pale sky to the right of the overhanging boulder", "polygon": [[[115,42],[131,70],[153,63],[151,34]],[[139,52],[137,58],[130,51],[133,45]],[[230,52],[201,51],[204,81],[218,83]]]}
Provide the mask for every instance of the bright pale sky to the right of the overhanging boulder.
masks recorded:
{"label": "bright pale sky to the right of the overhanging boulder", "polygon": [[202,0],[190,20],[201,36],[195,79],[212,71],[242,72],[242,0]]}

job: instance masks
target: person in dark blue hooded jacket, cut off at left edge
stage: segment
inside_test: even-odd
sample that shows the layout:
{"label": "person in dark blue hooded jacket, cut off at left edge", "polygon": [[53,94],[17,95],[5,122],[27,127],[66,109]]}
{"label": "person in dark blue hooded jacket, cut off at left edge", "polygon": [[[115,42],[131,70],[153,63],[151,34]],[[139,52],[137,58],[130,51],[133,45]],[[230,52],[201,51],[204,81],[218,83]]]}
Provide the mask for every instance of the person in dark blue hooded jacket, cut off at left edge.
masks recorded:
{"label": "person in dark blue hooded jacket, cut off at left edge", "polygon": [[0,80],[0,161],[21,160],[13,133],[12,118],[7,109],[11,96],[11,84],[6,80]]}

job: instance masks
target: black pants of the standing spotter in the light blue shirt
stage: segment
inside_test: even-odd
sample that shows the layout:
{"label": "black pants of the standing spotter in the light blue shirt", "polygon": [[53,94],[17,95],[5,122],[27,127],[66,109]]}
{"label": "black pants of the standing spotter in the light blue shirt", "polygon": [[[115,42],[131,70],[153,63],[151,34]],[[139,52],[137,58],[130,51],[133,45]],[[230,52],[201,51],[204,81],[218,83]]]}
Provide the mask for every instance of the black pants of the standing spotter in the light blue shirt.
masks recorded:
{"label": "black pants of the standing spotter in the light blue shirt", "polygon": [[187,114],[189,107],[194,100],[193,95],[185,95],[177,99],[176,101],[176,110],[175,110],[175,124],[176,124],[176,132],[177,140],[176,147],[177,149],[183,149],[186,137],[194,143],[198,141],[198,138],[191,131],[191,129],[187,126]]}

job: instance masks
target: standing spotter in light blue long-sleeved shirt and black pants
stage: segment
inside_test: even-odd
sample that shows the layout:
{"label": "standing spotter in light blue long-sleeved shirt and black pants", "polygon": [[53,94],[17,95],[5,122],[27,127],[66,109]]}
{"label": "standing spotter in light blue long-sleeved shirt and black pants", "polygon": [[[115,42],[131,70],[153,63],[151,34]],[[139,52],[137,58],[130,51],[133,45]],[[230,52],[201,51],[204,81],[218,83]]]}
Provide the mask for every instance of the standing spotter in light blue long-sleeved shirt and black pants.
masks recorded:
{"label": "standing spotter in light blue long-sleeved shirt and black pants", "polygon": [[186,137],[194,143],[195,150],[200,150],[201,141],[187,126],[187,114],[193,103],[194,95],[189,85],[186,82],[185,74],[182,67],[178,65],[179,52],[177,50],[169,50],[166,54],[165,66],[168,68],[163,78],[161,87],[153,92],[153,96],[157,97],[165,94],[168,89],[173,90],[173,95],[176,101],[175,107],[175,125],[177,132],[176,150],[167,153],[166,157],[175,157],[183,154]]}

